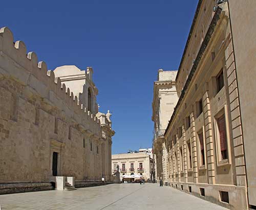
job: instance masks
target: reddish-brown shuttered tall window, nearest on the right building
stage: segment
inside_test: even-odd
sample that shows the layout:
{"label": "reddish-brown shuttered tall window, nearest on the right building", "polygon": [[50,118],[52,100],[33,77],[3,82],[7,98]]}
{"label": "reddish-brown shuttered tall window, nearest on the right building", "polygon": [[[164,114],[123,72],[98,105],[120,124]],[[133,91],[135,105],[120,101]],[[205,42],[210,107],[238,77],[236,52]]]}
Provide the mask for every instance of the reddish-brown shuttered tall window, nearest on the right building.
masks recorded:
{"label": "reddish-brown shuttered tall window, nearest on the right building", "polygon": [[220,138],[221,159],[226,160],[228,158],[228,153],[225,115],[223,114],[221,117],[216,119],[216,121]]}

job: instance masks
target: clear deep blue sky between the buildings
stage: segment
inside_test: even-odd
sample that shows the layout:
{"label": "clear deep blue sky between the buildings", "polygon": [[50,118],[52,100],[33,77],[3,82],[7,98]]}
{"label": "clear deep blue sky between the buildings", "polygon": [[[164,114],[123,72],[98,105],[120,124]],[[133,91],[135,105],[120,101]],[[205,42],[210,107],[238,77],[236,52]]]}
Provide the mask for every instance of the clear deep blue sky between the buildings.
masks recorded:
{"label": "clear deep blue sky between the buildings", "polygon": [[[112,153],[152,146],[157,70],[178,69],[198,0],[2,1],[0,27],[49,69],[92,66]],[[40,4],[38,4],[40,3]]]}

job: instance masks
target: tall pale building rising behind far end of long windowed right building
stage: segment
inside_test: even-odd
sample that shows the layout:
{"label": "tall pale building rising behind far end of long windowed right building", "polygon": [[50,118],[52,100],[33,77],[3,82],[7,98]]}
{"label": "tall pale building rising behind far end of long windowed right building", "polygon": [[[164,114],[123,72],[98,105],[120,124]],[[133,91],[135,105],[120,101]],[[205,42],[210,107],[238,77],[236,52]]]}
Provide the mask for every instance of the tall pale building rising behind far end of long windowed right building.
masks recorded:
{"label": "tall pale building rising behind far end of long windowed right building", "polygon": [[152,121],[154,121],[153,153],[156,164],[156,179],[168,180],[168,158],[164,144],[164,132],[170,116],[178,101],[176,91],[176,75],[178,71],[158,70],[157,81],[154,82],[154,97],[152,102]]}

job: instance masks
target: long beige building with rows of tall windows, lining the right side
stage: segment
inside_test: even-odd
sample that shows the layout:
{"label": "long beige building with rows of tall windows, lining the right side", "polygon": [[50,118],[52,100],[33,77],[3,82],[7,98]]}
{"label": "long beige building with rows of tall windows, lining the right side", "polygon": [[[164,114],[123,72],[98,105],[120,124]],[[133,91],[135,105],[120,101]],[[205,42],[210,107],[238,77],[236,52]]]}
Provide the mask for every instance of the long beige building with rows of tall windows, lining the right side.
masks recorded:
{"label": "long beige building with rows of tall windows, lining the right side", "polygon": [[161,141],[170,186],[235,210],[256,209],[255,19],[255,1],[199,1]]}

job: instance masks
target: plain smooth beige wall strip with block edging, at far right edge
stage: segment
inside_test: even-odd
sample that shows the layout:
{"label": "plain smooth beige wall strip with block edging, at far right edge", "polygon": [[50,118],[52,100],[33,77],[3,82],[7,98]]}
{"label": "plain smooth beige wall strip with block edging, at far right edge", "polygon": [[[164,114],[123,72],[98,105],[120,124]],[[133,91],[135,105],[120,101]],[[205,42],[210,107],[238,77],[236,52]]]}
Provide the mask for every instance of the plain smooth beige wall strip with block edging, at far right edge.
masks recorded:
{"label": "plain smooth beige wall strip with block edging, at far right edge", "polygon": [[[230,0],[229,13],[233,43],[226,50],[226,55],[230,60],[230,92],[232,93],[231,100],[234,113],[232,126],[238,137],[236,139],[236,165],[241,174],[238,177],[238,182],[244,184],[246,182],[245,173],[247,173],[249,204],[254,205],[255,208],[256,1]],[[245,160],[241,158],[241,154],[244,152]]]}

